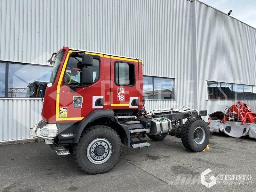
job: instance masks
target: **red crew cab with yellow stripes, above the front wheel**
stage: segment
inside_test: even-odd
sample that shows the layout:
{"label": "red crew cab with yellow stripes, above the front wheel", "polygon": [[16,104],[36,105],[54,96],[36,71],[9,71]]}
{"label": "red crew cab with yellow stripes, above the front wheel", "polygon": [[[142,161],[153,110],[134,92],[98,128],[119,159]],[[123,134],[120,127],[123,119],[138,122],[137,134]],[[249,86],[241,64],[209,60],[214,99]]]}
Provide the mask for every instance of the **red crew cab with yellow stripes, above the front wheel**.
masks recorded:
{"label": "red crew cab with yellow stripes, above the front wheel", "polygon": [[[83,55],[92,63],[83,63]],[[85,77],[89,82],[82,82]],[[42,118],[48,123],[77,123],[94,110],[141,109],[142,78],[140,59],[63,47],[55,56]]]}

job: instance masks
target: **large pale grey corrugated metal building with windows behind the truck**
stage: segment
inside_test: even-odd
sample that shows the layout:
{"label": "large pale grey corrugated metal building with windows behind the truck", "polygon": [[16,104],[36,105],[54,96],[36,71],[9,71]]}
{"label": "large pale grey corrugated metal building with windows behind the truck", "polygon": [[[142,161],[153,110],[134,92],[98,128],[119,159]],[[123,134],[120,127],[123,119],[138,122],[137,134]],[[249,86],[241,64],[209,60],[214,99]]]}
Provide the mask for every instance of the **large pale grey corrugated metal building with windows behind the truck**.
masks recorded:
{"label": "large pale grey corrugated metal building with windows behind the truck", "polygon": [[30,138],[42,101],[27,84],[62,46],[141,58],[147,110],[256,110],[256,29],[200,1],[0,0],[0,26],[0,141]]}

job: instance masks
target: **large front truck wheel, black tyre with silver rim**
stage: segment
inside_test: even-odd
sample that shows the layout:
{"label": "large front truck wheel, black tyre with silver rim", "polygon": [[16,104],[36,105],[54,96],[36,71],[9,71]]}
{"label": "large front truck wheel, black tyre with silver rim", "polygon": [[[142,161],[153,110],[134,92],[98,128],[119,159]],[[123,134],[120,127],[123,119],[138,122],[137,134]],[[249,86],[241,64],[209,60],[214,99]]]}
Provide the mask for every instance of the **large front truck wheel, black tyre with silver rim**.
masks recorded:
{"label": "large front truck wheel, black tyre with silver rim", "polygon": [[122,145],[118,134],[108,126],[94,125],[82,133],[79,142],[74,146],[73,155],[76,165],[83,172],[99,174],[113,169],[121,152]]}

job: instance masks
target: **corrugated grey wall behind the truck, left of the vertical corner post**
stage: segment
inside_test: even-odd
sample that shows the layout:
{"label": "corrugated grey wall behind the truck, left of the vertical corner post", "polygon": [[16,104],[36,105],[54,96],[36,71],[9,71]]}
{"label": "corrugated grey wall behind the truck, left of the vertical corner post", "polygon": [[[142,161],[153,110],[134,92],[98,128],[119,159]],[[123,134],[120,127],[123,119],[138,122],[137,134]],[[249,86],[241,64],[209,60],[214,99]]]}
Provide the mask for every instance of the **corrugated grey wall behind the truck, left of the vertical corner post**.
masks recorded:
{"label": "corrugated grey wall behind the truck, left of the vertical corner post", "polygon": [[[190,5],[188,0],[1,0],[0,60],[46,64],[62,46],[137,57],[144,75],[173,77],[181,87],[176,101],[148,100],[148,110],[193,105]],[[40,116],[30,118],[30,106],[39,101],[0,102],[10,108],[8,116],[2,113],[0,140],[29,137],[27,128]]]}

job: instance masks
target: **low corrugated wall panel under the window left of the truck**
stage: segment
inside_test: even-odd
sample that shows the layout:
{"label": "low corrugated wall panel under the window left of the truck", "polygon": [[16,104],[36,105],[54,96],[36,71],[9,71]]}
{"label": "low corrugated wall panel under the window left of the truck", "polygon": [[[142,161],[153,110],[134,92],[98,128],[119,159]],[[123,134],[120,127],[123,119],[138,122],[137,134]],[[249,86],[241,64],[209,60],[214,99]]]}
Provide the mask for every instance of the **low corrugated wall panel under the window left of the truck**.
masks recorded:
{"label": "low corrugated wall panel under the window left of the truck", "polygon": [[31,138],[29,129],[41,118],[42,100],[0,100],[0,141]]}

